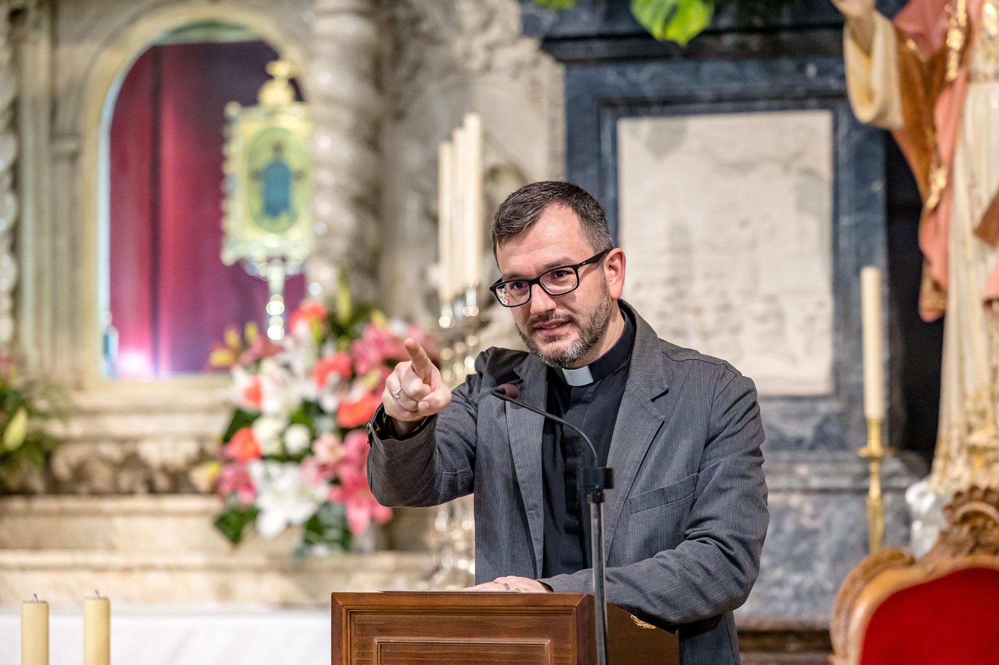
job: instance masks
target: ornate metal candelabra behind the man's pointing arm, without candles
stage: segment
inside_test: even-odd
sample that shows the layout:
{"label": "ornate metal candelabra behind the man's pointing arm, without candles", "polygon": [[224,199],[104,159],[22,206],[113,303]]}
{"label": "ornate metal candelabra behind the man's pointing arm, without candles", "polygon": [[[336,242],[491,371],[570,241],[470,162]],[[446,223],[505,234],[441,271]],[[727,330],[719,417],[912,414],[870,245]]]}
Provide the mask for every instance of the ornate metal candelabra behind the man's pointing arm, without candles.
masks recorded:
{"label": "ornate metal candelabra behind the man's pointing arm, without candles", "polygon": [[[480,347],[479,331],[483,327],[478,297],[478,285],[472,285],[441,308],[438,335],[441,343],[441,377],[452,388],[476,370],[476,355],[479,354]],[[445,503],[438,509],[431,543],[437,567],[421,584],[422,588],[447,590],[475,584],[475,529],[471,495]]]}

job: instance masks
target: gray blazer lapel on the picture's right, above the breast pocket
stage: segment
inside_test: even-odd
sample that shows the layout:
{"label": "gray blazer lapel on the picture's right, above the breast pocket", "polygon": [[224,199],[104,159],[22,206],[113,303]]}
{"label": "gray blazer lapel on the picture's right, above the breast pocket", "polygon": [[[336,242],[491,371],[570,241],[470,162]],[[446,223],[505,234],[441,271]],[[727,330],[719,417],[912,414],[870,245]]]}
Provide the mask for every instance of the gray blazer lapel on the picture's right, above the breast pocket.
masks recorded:
{"label": "gray blazer lapel on the picture's right, above the breast pocket", "polygon": [[621,396],[607,455],[607,466],[614,470],[614,488],[607,492],[604,511],[604,554],[607,557],[610,556],[610,543],[614,539],[624,499],[631,490],[631,483],[634,482],[648,446],[665,421],[666,414],[655,399],[669,389],[662,368],[658,335],[630,305],[624,301],[618,303],[634,315],[635,332],[627,384]]}

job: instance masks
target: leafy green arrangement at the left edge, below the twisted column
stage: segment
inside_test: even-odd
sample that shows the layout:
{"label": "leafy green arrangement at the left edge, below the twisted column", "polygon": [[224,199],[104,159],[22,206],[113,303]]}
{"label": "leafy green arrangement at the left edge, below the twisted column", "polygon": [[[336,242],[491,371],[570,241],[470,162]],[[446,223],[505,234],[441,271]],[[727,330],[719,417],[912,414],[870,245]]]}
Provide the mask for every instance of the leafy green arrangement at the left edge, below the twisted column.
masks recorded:
{"label": "leafy green arrangement at the left edge, below the twisted column", "polygon": [[54,388],[18,377],[13,356],[0,349],[0,493],[30,486],[31,467],[44,483],[41,475],[59,441],[37,423],[63,412],[62,397]]}

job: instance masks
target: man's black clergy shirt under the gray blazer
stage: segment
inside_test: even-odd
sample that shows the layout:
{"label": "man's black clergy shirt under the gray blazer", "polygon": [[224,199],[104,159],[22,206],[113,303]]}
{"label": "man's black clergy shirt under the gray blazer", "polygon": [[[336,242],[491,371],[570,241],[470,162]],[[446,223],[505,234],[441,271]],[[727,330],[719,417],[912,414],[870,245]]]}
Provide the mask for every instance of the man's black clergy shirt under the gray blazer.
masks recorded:
{"label": "man's black clergy shirt under the gray blazer", "polygon": [[[617,409],[624,394],[634,322],[624,308],[624,331],[603,355],[587,366],[592,382],[569,385],[561,369],[548,367],[547,409],[586,432],[606,464]],[[592,564],[589,554],[589,506],[578,488],[578,471],[595,466],[589,446],[577,433],[544,421],[541,474],[544,483],[544,542],[541,577],[573,573]]]}

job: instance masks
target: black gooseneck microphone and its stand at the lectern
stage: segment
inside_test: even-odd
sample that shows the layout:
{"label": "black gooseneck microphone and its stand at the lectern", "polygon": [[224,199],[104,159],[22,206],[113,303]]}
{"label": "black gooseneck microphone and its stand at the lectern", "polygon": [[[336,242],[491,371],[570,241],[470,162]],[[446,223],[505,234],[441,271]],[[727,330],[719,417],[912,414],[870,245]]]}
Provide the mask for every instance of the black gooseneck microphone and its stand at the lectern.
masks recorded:
{"label": "black gooseneck microphone and its stand at the lectern", "polygon": [[596,454],[593,442],[586,434],[571,422],[563,420],[554,413],[548,413],[530,404],[516,399],[516,387],[503,384],[493,388],[493,394],[503,401],[526,408],[546,418],[559,422],[571,428],[589,445],[593,453],[594,466],[581,469],[579,487],[586,493],[589,504],[589,551],[593,570],[593,621],[596,628],[596,663],[607,665],[607,601],[606,601],[606,563],[603,556],[603,492],[614,487],[614,470],[607,466],[598,466],[600,458]]}

